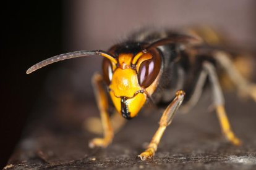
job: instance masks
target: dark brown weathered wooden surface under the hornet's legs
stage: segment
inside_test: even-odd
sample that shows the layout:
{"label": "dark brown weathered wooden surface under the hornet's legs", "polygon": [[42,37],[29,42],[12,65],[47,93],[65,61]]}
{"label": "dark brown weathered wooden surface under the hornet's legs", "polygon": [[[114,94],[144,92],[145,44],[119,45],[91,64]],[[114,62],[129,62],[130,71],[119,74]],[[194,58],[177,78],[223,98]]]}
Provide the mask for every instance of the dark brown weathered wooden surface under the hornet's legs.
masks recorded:
{"label": "dark brown weathered wooden surface under the hornet's legs", "polygon": [[[97,136],[84,131],[80,121],[76,124],[79,126],[74,126],[68,123],[75,121],[72,117],[58,119],[52,113],[30,123],[6,169],[256,169],[255,103],[240,102],[235,94],[226,95],[231,124],[244,142],[241,147],[234,147],[221,136],[216,114],[209,111],[208,102],[209,97],[205,97],[187,115],[177,114],[164,133],[158,152],[149,161],[141,161],[137,155],[150,142],[161,111],[130,120],[105,149],[88,148],[88,140]],[[74,108],[82,110],[81,114],[99,115],[91,103]]]}

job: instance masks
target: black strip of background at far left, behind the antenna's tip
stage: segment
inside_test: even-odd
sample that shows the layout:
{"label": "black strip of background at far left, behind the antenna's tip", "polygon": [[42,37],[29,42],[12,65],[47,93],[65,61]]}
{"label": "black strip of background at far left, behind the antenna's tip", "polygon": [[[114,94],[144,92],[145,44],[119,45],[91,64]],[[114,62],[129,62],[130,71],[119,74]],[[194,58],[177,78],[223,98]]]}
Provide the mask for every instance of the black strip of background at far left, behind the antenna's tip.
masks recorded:
{"label": "black strip of background at far left, behind the antenna's tip", "polygon": [[28,115],[53,68],[26,75],[30,65],[59,54],[63,47],[63,1],[6,1],[1,7],[2,167],[19,141]]}

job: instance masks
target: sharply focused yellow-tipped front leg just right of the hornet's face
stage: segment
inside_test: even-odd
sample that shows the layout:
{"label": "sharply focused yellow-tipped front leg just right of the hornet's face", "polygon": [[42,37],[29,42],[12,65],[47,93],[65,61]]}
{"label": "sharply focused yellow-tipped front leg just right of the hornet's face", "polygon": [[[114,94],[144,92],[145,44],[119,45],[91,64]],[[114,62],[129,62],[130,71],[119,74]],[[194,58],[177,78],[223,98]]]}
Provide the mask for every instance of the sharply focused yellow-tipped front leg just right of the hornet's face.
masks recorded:
{"label": "sharply focused yellow-tipped front leg just right of the hornet's face", "polygon": [[155,132],[155,135],[151,139],[150,144],[148,145],[147,150],[145,152],[142,152],[140,155],[140,159],[142,161],[152,158],[152,156],[155,155],[155,152],[157,150],[158,144],[161,140],[161,137],[163,136],[163,133],[166,129],[166,127],[171,124],[171,121],[173,120],[174,114],[176,113],[177,109],[181,105],[183,99],[184,99],[185,92],[184,91],[177,91],[176,97],[174,98],[173,102],[171,102],[166,110],[164,110],[163,115],[160,119],[160,126],[158,130]]}

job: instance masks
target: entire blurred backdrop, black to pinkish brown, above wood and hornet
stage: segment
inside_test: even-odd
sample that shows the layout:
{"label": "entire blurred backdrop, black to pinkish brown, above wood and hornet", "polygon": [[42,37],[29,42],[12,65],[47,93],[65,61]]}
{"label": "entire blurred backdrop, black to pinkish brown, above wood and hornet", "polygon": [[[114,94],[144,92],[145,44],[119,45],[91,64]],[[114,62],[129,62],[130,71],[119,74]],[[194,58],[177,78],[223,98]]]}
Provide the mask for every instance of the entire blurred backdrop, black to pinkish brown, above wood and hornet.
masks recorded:
{"label": "entire blurred backdrop, black to pinkish brown, above wood and hornet", "polygon": [[[143,26],[179,28],[206,24],[223,30],[235,44],[255,52],[253,0],[6,3],[1,9],[0,41],[1,166],[13,152],[22,129],[32,119],[43,119],[45,115],[41,113],[50,113],[45,112],[48,107],[72,100],[94,101],[90,78],[95,70],[100,70],[100,57],[59,62],[26,75],[27,68],[36,62],[69,51],[106,50]],[[62,111],[59,112],[61,117]],[[77,119],[85,117],[80,114],[71,119],[75,124]]]}

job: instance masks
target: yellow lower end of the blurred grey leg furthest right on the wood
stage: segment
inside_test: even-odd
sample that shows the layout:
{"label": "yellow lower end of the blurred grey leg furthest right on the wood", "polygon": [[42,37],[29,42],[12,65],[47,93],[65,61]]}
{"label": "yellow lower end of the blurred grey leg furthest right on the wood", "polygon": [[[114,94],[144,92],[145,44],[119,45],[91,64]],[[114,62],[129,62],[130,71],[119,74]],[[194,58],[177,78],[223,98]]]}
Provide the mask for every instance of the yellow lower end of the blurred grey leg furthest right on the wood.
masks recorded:
{"label": "yellow lower end of the blurred grey leg furthest right on the wood", "polygon": [[226,139],[228,139],[229,142],[231,142],[233,145],[241,145],[242,144],[241,140],[239,140],[234,135],[234,132],[231,129],[231,126],[228,121],[228,116],[226,115],[226,111],[225,111],[223,105],[217,106],[216,111],[217,111],[218,119],[221,124],[222,132],[223,132],[224,136],[226,137]]}

